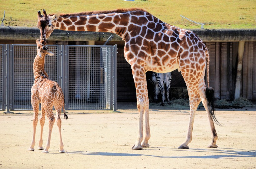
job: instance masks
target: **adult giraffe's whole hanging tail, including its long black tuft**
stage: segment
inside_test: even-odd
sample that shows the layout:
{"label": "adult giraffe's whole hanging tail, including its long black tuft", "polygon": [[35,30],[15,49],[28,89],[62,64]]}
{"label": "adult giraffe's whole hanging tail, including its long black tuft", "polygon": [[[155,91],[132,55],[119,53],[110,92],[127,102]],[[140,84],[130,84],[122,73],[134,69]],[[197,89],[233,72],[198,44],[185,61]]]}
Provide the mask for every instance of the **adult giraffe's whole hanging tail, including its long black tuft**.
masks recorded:
{"label": "adult giraffe's whole hanging tail, including its long black tuft", "polygon": [[215,114],[214,114],[214,111],[215,111],[215,109],[214,109],[214,107],[215,107],[214,89],[212,87],[210,87],[210,85],[209,85],[209,61],[210,61],[209,51],[205,45],[204,45],[204,47],[205,47],[205,56],[206,56],[206,63],[207,63],[207,85],[208,85],[208,87],[206,87],[206,90],[205,90],[205,96],[207,99],[207,107],[208,107],[208,111],[210,113],[211,118],[215,121],[215,123],[217,125],[221,126],[221,124],[216,119]]}

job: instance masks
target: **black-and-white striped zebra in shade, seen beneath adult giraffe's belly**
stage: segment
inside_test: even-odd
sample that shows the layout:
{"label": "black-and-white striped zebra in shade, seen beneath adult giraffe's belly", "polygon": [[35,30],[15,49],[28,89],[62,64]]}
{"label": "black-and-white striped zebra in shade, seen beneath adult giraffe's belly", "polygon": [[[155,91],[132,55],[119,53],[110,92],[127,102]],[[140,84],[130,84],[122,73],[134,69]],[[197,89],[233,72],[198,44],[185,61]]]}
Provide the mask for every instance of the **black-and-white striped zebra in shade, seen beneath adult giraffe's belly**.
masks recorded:
{"label": "black-and-white striped zebra in shade, seen beneath adult giraffe's belly", "polygon": [[162,103],[160,104],[161,106],[164,106],[164,102],[165,102],[165,85],[166,85],[166,95],[167,95],[167,103],[170,104],[170,98],[169,98],[169,94],[170,94],[170,87],[171,87],[171,72],[168,73],[152,73],[152,78],[151,81],[153,82],[153,85],[155,86],[154,88],[154,100],[155,102],[157,102],[158,99],[158,95],[160,93],[161,90],[161,94],[162,94]]}

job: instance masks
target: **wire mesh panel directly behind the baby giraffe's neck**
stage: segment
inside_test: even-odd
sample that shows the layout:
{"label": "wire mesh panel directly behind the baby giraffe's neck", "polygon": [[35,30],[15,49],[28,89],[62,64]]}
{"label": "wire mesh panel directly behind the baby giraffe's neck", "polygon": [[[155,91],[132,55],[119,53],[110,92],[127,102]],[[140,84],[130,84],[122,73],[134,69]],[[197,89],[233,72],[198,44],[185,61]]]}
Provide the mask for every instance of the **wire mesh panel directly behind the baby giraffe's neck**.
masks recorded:
{"label": "wire mesh panel directly behind the baby giraffe's neck", "polygon": [[[49,79],[56,81],[58,45],[47,45],[47,47],[48,51],[55,55],[45,57],[45,71]],[[33,62],[36,55],[36,45],[12,45],[12,110],[32,109],[31,87],[34,83]]]}

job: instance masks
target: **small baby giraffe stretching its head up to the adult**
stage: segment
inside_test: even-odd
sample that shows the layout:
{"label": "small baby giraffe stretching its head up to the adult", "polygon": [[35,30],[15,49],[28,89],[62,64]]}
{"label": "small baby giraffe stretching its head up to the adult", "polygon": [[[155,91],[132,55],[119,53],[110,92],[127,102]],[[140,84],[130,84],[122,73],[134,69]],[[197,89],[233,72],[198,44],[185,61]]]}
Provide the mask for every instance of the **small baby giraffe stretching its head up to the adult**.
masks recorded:
{"label": "small baby giraffe stretching its head up to the adult", "polygon": [[36,40],[37,43],[37,56],[34,60],[33,70],[34,70],[34,84],[31,88],[31,104],[34,111],[34,118],[33,118],[33,139],[31,142],[31,146],[28,151],[34,151],[35,146],[35,134],[36,134],[36,127],[37,127],[37,117],[39,111],[39,103],[41,103],[42,107],[42,114],[40,117],[40,124],[41,124],[41,134],[39,140],[38,149],[43,149],[43,126],[45,122],[45,114],[47,115],[49,121],[49,134],[48,140],[45,149],[42,153],[48,153],[50,148],[50,141],[51,141],[51,134],[52,134],[52,127],[55,122],[55,117],[52,112],[52,107],[54,106],[57,115],[57,126],[59,127],[60,132],[60,153],[64,153],[63,143],[62,143],[62,136],[61,136],[61,110],[63,108],[64,111],[64,118],[67,119],[67,115],[64,109],[64,95],[62,92],[61,87],[55,82],[48,78],[47,73],[44,71],[44,62],[45,62],[45,55],[53,56],[54,53],[48,52],[47,47],[40,43],[39,39]]}

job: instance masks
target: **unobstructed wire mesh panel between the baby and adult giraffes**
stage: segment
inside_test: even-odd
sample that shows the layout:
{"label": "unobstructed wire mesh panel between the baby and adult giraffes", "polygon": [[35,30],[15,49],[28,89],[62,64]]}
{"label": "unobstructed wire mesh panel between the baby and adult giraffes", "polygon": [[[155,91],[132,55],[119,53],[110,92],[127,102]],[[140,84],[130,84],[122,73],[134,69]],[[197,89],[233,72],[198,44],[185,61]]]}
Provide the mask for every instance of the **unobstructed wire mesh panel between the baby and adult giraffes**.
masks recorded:
{"label": "unobstructed wire mesh panel between the baby and adult giraffes", "polygon": [[67,46],[68,109],[110,109],[111,46]]}

